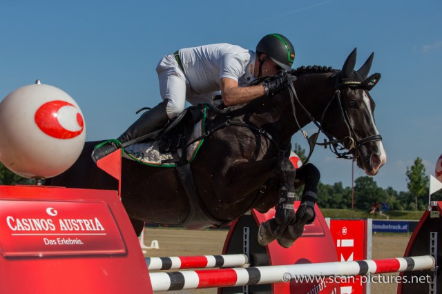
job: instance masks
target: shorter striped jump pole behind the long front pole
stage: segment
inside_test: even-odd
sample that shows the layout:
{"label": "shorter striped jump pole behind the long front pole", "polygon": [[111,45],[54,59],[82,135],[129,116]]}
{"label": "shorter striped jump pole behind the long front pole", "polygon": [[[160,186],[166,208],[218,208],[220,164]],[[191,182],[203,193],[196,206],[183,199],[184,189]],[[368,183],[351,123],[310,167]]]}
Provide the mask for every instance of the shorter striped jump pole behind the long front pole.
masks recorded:
{"label": "shorter striped jump pole behind the long front pole", "polygon": [[244,254],[200,255],[175,257],[145,257],[149,271],[187,268],[232,268],[247,266],[249,259]]}

